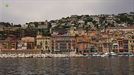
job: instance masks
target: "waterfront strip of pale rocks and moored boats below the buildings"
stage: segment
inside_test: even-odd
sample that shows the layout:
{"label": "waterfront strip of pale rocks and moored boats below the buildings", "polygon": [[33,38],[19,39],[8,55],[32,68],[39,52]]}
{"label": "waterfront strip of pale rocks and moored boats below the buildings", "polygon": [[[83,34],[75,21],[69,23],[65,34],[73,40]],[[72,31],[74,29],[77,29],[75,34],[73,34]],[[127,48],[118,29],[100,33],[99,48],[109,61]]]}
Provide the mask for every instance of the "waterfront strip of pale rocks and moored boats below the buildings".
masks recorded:
{"label": "waterfront strip of pale rocks and moored boats below the buildings", "polygon": [[52,57],[111,57],[111,56],[128,56],[134,57],[132,53],[92,53],[92,54],[76,54],[76,53],[64,53],[64,54],[0,54],[0,58],[52,58]]}

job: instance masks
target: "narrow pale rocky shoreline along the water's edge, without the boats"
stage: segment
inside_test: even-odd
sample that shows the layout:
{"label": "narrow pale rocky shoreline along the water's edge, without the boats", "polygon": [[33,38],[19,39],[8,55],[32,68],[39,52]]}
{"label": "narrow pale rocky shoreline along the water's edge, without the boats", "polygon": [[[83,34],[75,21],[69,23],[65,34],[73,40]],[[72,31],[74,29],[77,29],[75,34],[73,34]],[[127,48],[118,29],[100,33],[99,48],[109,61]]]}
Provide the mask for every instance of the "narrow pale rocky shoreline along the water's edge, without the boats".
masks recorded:
{"label": "narrow pale rocky shoreline along the water's edge, without the boats", "polygon": [[55,58],[55,57],[118,57],[134,55],[82,55],[82,54],[0,54],[0,58]]}

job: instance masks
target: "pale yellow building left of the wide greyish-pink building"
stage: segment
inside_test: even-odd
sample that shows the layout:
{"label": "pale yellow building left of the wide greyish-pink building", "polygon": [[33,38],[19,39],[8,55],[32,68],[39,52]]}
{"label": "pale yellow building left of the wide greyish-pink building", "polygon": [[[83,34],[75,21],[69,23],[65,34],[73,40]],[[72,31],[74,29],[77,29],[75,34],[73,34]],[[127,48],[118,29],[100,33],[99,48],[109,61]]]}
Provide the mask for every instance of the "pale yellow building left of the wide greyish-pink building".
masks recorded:
{"label": "pale yellow building left of the wide greyish-pink building", "polygon": [[43,52],[50,52],[51,51],[51,37],[37,35],[36,46],[37,46],[37,49],[40,49]]}

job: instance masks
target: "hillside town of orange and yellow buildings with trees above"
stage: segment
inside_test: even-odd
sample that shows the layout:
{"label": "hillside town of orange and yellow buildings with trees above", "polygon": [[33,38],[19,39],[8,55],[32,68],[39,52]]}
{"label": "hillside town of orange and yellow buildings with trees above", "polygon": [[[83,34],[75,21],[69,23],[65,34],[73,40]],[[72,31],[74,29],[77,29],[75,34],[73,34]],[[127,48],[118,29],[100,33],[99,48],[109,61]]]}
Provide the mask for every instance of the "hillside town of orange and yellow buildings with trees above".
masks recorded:
{"label": "hillside town of orange and yellow buildings with trees above", "polygon": [[134,12],[0,22],[0,54],[133,54]]}

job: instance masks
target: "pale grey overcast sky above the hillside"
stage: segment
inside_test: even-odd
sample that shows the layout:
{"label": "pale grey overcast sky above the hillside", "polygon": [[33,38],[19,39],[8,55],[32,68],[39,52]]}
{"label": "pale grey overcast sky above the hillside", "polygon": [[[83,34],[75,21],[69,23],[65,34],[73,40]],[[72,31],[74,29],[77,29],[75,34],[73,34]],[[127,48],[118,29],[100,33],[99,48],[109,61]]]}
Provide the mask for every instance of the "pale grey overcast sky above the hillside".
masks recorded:
{"label": "pale grey overcast sky above the hillside", "polygon": [[131,11],[134,0],[0,0],[0,22],[14,24]]}

